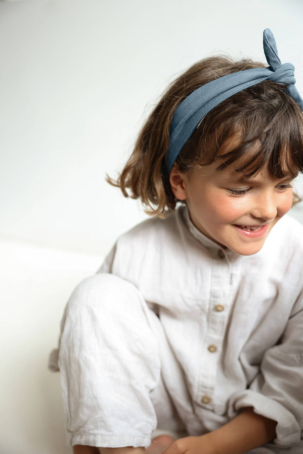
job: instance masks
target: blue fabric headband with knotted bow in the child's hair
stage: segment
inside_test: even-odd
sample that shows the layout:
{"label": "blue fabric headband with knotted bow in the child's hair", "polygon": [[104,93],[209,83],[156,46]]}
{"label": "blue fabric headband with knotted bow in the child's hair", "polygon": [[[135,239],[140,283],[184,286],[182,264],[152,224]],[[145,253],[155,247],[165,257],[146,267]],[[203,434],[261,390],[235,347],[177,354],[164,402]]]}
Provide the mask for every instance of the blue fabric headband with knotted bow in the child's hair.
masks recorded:
{"label": "blue fabric headband with knotted bow in the child's hair", "polygon": [[269,64],[268,68],[252,68],[227,74],[212,80],[208,84],[194,90],[177,107],[170,125],[170,142],[168,151],[168,171],[177,159],[181,149],[187,142],[202,118],[215,106],[230,98],[233,94],[259,84],[263,80],[272,80],[280,84],[289,84],[288,94],[301,106],[303,99],[294,84],[294,66],[291,63],[281,64],[273,33],[269,29],[263,31],[263,49]]}

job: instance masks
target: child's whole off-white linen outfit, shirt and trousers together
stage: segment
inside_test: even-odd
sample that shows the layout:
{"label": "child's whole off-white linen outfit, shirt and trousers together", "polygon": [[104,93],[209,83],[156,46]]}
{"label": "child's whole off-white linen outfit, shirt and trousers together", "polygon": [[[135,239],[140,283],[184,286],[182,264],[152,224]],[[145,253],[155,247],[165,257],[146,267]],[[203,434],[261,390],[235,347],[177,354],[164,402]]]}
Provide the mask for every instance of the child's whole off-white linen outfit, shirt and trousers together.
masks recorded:
{"label": "child's whole off-white linen outfit, shirt and trousers together", "polygon": [[[303,226],[284,215],[242,256],[179,206],[122,234],[65,306],[59,348],[67,445],[202,435],[243,407],[278,421],[250,454],[303,452]],[[158,429],[157,429],[158,428]]]}

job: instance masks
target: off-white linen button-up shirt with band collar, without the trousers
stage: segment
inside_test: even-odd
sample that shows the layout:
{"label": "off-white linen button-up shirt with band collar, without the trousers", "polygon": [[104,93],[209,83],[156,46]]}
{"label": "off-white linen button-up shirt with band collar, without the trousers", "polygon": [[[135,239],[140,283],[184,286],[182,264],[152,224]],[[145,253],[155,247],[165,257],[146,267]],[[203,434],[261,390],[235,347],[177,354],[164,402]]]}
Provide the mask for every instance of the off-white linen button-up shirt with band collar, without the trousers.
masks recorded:
{"label": "off-white linen button-up shirt with band collar, without the trousers", "polygon": [[277,437],[266,445],[272,449],[264,452],[295,446],[289,452],[303,453],[303,226],[297,220],[285,215],[258,253],[242,256],[204,236],[182,205],[122,234],[99,272],[133,283],[159,316],[186,383],[171,374],[169,393],[187,415],[190,434],[217,429],[252,406],[278,421]]}

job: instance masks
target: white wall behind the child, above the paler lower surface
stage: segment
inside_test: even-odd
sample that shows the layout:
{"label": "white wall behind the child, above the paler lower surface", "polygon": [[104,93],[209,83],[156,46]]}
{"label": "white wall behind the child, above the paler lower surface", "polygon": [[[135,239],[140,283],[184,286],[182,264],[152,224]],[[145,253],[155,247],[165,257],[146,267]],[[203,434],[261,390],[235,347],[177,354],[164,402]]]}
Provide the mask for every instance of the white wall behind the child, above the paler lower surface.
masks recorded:
{"label": "white wall behind the child, above the paler lower surface", "polygon": [[168,82],[212,53],[266,63],[268,27],[302,93],[302,13],[294,0],[1,2],[0,235],[107,252],[148,216],[105,173]]}

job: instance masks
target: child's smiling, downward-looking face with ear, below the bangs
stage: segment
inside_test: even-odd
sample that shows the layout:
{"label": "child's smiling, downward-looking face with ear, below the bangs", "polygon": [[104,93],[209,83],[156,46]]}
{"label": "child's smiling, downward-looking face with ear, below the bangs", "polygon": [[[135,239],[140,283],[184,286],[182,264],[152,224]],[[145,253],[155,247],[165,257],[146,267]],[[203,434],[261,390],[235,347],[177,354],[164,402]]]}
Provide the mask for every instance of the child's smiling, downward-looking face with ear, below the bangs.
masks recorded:
{"label": "child's smiling, downward-looking face with ear, below the bangs", "polygon": [[[194,168],[190,178],[172,170],[173,192],[180,200],[186,199],[191,220],[200,232],[233,252],[255,254],[292,206],[293,177],[277,180],[259,172],[250,181],[238,181],[242,174],[232,167],[218,173],[218,165]],[[237,226],[265,227],[247,232]]]}

